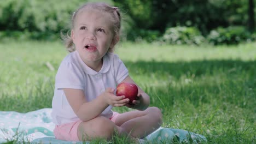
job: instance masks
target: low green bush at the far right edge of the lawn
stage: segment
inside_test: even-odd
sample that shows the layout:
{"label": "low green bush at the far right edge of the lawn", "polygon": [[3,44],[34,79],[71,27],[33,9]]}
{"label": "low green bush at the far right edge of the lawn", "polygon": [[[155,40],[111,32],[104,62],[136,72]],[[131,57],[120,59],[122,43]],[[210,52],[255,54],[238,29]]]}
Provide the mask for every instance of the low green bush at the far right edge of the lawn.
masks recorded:
{"label": "low green bush at the far right edge of the lawn", "polygon": [[230,26],[227,28],[218,27],[207,36],[209,43],[219,44],[238,44],[246,40],[254,40],[253,34],[250,34],[245,27]]}

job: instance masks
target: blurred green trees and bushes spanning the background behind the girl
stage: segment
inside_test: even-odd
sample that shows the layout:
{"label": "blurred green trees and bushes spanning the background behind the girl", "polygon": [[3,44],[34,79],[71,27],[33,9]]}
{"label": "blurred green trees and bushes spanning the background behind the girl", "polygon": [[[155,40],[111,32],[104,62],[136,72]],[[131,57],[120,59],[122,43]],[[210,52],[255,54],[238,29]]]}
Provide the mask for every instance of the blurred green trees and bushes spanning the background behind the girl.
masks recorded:
{"label": "blurred green trees and bushes spanning the background behind the girl", "polygon": [[[0,37],[56,40],[86,1],[5,0]],[[161,44],[238,44],[256,39],[255,0],[108,0],[123,12],[122,40]]]}

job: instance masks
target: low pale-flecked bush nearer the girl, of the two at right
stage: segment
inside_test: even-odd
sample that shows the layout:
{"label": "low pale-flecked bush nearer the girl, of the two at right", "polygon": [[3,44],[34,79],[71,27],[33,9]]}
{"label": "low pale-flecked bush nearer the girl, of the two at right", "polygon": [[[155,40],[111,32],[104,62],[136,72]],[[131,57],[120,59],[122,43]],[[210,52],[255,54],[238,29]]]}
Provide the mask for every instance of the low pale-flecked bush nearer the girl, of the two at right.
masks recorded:
{"label": "low pale-flecked bush nearer the girl, of the two at right", "polygon": [[195,27],[167,28],[161,40],[167,44],[202,44],[205,41],[201,32]]}

